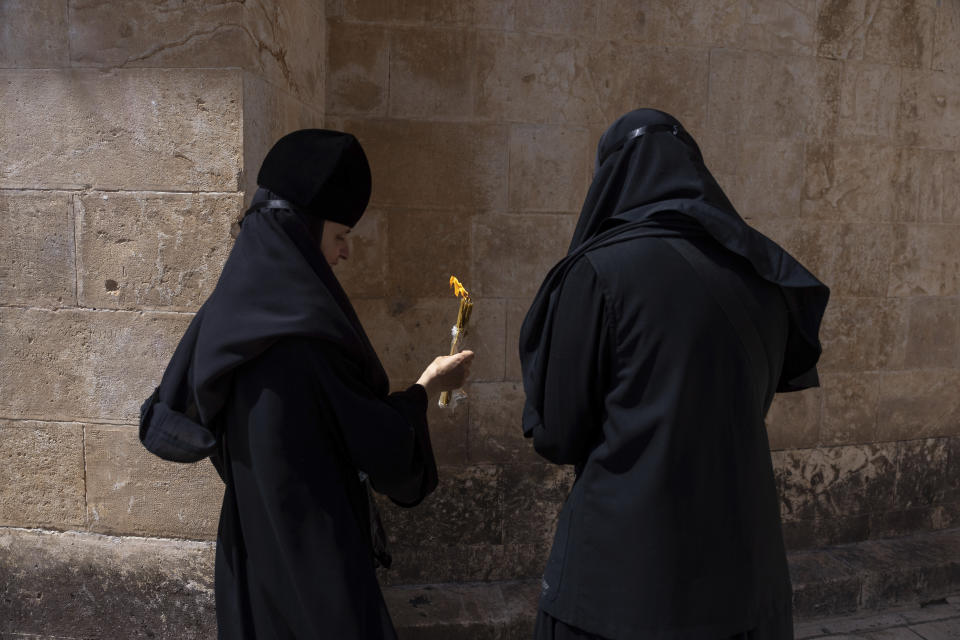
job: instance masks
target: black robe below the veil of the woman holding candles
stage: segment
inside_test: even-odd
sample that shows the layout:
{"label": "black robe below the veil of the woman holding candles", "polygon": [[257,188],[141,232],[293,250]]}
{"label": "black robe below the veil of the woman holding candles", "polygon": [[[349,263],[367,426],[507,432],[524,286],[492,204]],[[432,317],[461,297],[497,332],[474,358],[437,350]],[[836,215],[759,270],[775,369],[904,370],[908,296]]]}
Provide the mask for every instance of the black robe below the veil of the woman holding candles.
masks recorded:
{"label": "black robe below the veil of the woman holding candles", "polygon": [[423,387],[378,397],[350,364],[285,338],[234,376],[217,534],[221,638],[395,638],[357,470],[395,501],[436,482]]}

